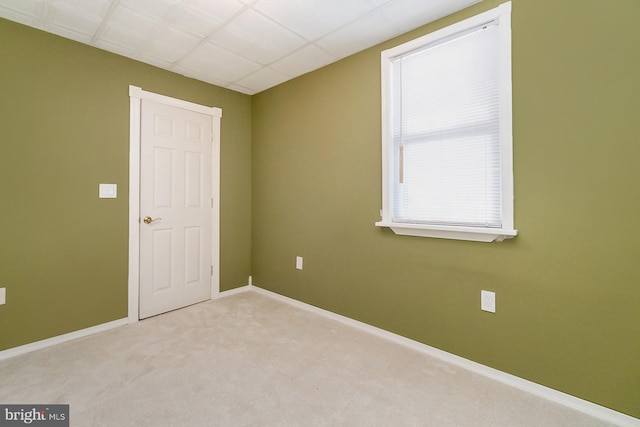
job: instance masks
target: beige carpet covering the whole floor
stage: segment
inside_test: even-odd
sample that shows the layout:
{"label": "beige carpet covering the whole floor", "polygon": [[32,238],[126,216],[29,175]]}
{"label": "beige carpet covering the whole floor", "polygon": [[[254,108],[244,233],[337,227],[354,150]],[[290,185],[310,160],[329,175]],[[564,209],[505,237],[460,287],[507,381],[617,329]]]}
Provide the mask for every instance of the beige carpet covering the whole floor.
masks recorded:
{"label": "beige carpet covering the whole floor", "polygon": [[605,426],[256,292],[0,362],[84,426]]}

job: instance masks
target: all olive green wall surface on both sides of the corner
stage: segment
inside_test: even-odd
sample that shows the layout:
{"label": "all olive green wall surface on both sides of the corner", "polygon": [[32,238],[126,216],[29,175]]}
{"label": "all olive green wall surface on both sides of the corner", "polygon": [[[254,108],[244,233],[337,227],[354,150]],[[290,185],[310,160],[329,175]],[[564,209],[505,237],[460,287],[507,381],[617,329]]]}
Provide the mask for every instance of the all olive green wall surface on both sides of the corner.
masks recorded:
{"label": "all olive green wall surface on both sides of the corner", "polygon": [[[222,290],[252,274],[640,417],[640,2],[513,0],[516,239],[373,225],[380,50],[498,4],[254,97],[0,19],[0,350],[126,317],[136,85],[223,109]],[[118,199],[98,199],[100,182]],[[481,289],[496,314],[480,311]]]}

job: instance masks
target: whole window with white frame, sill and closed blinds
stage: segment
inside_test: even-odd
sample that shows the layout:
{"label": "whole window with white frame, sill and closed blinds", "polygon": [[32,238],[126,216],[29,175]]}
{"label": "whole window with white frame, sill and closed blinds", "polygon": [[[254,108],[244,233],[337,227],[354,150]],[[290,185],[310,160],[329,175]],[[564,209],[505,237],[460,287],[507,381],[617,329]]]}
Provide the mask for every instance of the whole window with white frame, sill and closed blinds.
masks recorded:
{"label": "whole window with white frame, sill and closed blinds", "polygon": [[382,52],[382,220],[396,234],[514,237],[511,3]]}

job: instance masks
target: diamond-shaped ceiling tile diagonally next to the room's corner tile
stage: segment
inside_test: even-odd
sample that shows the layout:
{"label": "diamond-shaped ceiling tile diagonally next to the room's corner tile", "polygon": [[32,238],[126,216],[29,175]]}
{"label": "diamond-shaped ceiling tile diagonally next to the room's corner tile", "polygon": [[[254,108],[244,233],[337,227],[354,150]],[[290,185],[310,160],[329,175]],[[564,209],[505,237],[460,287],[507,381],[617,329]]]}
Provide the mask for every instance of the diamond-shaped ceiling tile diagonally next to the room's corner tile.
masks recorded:
{"label": "diamond-shaped ceiling tile diagonally next to the room's corner tile", "polygon": [[304,40],[257,12],[248,10],[233,20],[211,41],[267,64],[304,45]]}

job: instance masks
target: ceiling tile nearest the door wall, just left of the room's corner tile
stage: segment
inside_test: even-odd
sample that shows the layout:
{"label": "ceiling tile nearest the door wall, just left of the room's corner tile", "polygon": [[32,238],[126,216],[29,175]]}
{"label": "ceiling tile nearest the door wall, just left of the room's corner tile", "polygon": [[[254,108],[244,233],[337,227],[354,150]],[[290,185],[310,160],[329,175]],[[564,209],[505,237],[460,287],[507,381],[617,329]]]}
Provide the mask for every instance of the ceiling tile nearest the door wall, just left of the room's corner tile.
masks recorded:
{"label": "ceiling tile nearest the door wall, just left of the room's corner tile", "polygon": [[211,43],[198,47],[178,65],[199,74],[211,74],[229,82],[238,80],[261,66]]}

